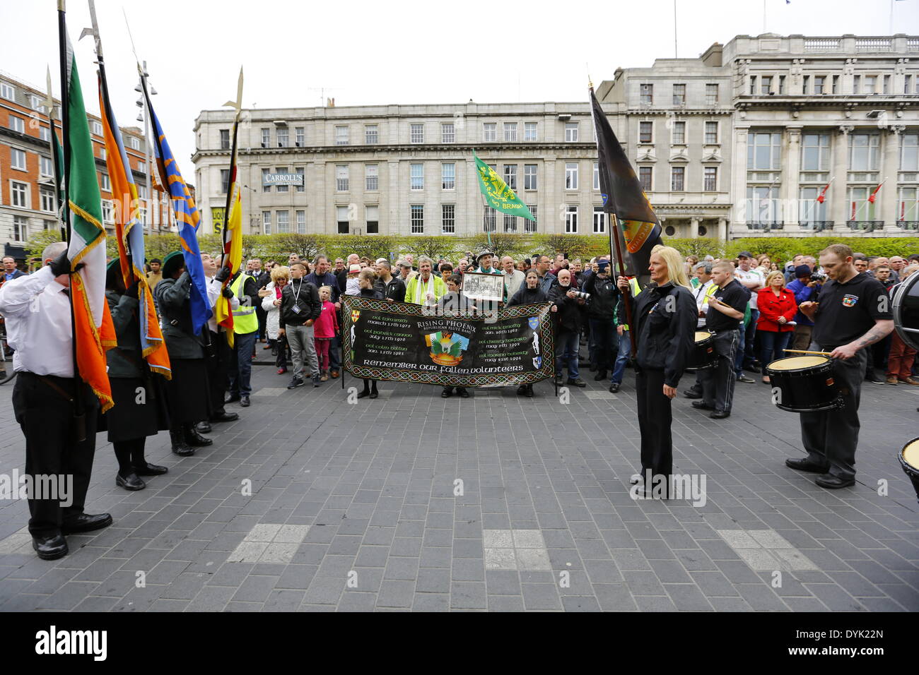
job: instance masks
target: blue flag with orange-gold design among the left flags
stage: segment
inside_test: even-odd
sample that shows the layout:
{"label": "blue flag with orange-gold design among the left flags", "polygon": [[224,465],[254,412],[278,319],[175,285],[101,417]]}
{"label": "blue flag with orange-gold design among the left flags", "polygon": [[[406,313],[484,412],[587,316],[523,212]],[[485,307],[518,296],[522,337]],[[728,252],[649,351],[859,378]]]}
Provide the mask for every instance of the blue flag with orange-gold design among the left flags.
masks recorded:
{"label": "blue flag with orange-gold design among the left flags", "polygon": [[204,267],[201,265],[201,253],[198,248],[198,226],[201,214],[195,206],[188,186],[179,173],[178,163],[166,142],[160,120],[153,112],[153,104],[147,95],[146,82],[143,84],[143,96],[147,101],[150,111],[150,122],[153,127],[153,153],[156,156],[156,165],[159,169],[160,182],[169,190],[169,201],[173,212],[176,214],[178,236],[182,240],[182,257],[185,259],[185,268],[191,276],[191,323],[195,333],[201,332],[210,319],[210,303],[208,290],[204,280]]}

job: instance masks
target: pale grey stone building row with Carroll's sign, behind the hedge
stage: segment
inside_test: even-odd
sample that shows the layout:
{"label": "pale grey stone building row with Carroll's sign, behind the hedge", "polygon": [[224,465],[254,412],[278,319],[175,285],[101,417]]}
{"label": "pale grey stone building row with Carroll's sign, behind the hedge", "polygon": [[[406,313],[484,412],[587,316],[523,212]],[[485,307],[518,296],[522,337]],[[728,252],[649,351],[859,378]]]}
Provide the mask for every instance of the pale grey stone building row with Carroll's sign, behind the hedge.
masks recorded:
{"label": "pale grey stone building row with Carroll's sign, behind the hedge", "polygon": [[[738,36],[596,91],[666,236],[917,233],[919,38]],[[204,231],[232,121],[195,123]],[[249,109],[238,149],[246,232],[607,232],[586,100]],[[536,223],[484,207],[473,151]]]}

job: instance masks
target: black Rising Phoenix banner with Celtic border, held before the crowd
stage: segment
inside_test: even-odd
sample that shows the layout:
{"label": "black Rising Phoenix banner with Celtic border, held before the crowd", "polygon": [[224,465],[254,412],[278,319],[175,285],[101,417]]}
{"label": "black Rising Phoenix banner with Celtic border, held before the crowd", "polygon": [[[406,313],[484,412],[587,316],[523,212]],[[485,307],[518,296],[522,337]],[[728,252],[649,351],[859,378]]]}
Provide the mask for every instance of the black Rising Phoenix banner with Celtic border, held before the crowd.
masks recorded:
{"label": "black Rising Phoenix banner with Celtic border, held before the crowd", "polygon": [[555,375],[550,307],[540,302],[454,316],[342,296],[345,369],[354,377],[453,387],[537,382]]}

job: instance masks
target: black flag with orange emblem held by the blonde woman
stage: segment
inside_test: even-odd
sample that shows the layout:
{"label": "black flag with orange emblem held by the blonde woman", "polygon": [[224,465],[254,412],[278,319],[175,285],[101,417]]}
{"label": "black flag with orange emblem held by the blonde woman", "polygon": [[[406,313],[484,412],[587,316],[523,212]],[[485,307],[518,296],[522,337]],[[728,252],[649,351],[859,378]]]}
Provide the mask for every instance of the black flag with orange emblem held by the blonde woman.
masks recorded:
{"label": "black flag with orange emblem held by the blonde woman", "polygon": [[651,250],[663,243],[661,223],[641,189],[641,181],[635,175],[629,158],[609,126],[593,87],[590,88],[590,106],[594,117],[603,210],[614,214],[621,227],[620,236],[629,251],[629,259],[622,261],[627,263],[626,274],[638,276],[642,282],[646,282]]}

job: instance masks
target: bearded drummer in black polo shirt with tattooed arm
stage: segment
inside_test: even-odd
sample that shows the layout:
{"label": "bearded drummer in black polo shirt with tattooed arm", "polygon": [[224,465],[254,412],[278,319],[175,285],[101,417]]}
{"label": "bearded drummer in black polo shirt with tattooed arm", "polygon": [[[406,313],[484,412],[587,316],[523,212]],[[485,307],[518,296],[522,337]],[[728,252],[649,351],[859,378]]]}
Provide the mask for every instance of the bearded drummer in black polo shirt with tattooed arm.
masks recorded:
{"label": "bearded drummer in black polo shirt with tattooed arm", "polygon": [[816,301],[798,309],[814,322],[813,342],[834,359],[834,380],[844,405],[831,411],[801,412],[801,441],[808,456],[786,459],[799,471],[821,474],[822,488],[855,484],[858,444],[858,401],[868,359],[865,347],[883,340],[893,330],[891,300],[880,282],[857,272],[852,249],[841,243],[820,252],[820,264],[830,281]]}

